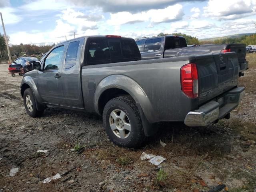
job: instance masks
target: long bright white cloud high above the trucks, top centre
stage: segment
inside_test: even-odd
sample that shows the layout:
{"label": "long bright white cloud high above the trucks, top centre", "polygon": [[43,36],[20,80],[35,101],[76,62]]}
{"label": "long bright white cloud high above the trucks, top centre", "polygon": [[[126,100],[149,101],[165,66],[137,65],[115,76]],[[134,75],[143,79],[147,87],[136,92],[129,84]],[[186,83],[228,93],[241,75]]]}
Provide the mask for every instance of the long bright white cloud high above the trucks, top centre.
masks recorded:
{"label": "long bright white cloud high above the trucks, top centre", "polygon": [[175,4],[164,9],[151,9],[146,12],[132,14],[130,12],[110,13],[107,23],[113,26],[122,24],[134,24],[150,21],[152,24],[182,20],[184,15],[182,5]]}

